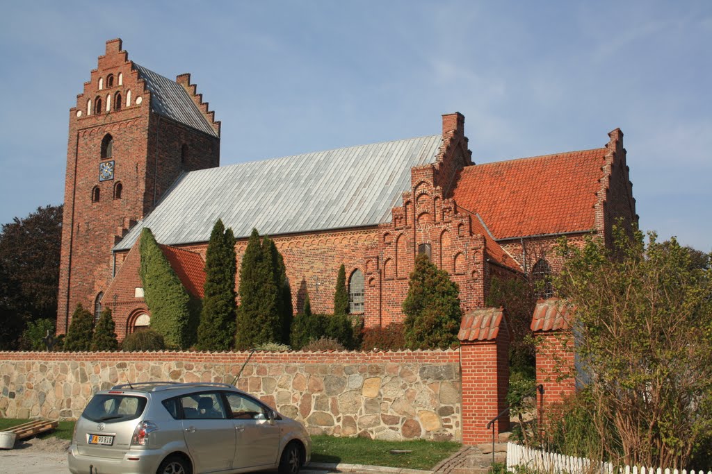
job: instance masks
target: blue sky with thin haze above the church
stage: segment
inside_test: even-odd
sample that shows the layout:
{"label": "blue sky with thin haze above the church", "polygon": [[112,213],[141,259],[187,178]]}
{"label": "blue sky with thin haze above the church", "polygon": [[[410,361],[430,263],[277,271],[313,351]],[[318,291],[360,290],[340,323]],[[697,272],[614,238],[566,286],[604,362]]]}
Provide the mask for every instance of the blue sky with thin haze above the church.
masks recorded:
{"label": "blue sky with thin haze above the church", "polygon": [[476,163],[620,127],[644,230],[712,250],[710,1],[31,1],[0,18],[0,223],[63,201],[68,110],[105,41],[192,82],[221,163],[439,133]]}

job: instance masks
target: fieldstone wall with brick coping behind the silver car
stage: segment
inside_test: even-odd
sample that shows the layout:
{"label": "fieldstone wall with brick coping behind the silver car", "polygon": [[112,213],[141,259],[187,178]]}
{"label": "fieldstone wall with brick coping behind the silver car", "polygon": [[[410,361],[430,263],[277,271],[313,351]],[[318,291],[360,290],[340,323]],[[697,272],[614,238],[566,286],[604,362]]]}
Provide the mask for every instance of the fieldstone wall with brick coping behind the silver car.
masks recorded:
{"label": "fieldstone wall with brick coping behind the silver car", "polygon": [[[0,416],[75,419],[128,381],[228,382],[246,352],[0,352]],[[237,383],[311,433],[460,441],[459,350],[255,352]]]}

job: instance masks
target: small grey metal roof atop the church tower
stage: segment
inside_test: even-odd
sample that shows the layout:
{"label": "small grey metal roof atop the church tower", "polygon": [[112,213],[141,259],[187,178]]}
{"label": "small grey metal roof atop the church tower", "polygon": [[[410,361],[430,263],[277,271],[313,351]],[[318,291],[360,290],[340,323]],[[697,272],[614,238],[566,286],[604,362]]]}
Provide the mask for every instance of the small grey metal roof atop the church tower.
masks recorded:
{"label": "small grey metal roof atop the church tower", "polygon": [[133,64],[138,70],[139,77],[145,80],[146,88],[151,92],[153,112],[204,131],[206,134],[218,136],[182,85],[141,65]]}

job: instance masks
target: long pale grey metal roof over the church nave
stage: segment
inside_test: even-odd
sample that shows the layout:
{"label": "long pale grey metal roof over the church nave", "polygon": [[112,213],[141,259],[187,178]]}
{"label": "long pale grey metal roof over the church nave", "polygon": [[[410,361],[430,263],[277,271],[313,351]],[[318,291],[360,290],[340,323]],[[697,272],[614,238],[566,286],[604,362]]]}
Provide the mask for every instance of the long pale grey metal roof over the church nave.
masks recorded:
{"label": "long pale grey metal roof over the church nave", "polygon": [[115,249],[130,249],[143,227],[162,244],[207,242],[218,219],[238,238],[253,227],[281,235],[390,222],[410,168],[434,163],[441,141],[423,136],[185,173]]}

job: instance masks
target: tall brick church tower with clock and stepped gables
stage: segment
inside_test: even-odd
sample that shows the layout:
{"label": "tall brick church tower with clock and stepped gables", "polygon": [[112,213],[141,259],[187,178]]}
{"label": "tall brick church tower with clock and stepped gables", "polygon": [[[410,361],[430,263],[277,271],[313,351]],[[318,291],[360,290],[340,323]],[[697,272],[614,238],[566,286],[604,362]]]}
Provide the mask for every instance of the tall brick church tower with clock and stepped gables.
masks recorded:
{"label": "tall brick church tower with clock and stepped gables", "polygon": [[[100,311],[112,247],[185,171],[220,164],[220,122],[190,83],[128,60],[107,41],[70,109],[57,333],[78,303]],[[106,302],[104,302],[106,303]]]}

